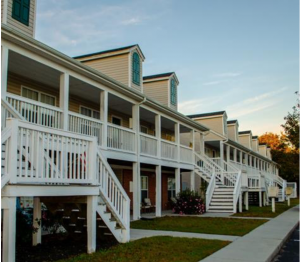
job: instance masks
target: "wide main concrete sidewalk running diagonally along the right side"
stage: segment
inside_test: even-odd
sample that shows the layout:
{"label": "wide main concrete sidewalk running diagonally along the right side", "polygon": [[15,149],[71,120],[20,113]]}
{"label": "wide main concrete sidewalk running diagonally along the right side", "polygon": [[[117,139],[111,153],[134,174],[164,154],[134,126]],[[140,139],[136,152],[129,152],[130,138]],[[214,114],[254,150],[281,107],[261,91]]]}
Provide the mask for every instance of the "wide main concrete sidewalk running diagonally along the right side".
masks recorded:
{"label": "wide main concrete sidewalk running diagonally along the right side", "polygon": [[201,262],[269,262],[298,223],[299,206],[296,206]]}

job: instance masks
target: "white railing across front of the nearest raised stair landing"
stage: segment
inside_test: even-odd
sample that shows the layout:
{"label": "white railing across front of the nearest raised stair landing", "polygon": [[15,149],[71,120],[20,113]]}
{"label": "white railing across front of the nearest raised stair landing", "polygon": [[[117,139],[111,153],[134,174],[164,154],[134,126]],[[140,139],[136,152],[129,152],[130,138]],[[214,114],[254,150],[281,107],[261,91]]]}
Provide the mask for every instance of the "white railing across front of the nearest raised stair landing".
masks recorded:
{"label": "white railing across front of the nearest raised stair landing", "polygon": [[95,184],[95,138],[8,119],[10,183]]}

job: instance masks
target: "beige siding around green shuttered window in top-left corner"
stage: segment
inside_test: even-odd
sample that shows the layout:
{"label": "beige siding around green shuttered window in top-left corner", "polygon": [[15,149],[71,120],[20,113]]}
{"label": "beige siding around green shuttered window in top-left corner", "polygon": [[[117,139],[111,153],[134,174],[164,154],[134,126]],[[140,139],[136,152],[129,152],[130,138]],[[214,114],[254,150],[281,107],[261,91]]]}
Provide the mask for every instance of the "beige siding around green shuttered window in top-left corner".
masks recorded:
{"label": "beige siding around green shuttered window in top-left corner", "polygon": [[34,34],[34,12],[35,12],[35,0],[30,1],[30,13],[29,13],[29,26],[24,25],[17,21],[16,19],[12,18],[12,6],[13,6],[13,0],[8,0],[7,5],[7,25],[13,27],[14,29],[17,29],[24,34],[33,37]]}

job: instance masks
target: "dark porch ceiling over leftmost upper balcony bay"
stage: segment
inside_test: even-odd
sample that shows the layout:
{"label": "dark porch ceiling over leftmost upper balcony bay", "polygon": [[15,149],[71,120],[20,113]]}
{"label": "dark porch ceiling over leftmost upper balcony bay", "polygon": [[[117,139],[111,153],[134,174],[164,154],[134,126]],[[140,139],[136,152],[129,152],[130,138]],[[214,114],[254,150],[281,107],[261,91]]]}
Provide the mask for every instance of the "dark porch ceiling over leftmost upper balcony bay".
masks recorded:
{"label": "dark porch ceiling over leftmost upper balcony bay", "polygon": [[9,51],[8,72],[59,89],[59,71],[13,51]]}

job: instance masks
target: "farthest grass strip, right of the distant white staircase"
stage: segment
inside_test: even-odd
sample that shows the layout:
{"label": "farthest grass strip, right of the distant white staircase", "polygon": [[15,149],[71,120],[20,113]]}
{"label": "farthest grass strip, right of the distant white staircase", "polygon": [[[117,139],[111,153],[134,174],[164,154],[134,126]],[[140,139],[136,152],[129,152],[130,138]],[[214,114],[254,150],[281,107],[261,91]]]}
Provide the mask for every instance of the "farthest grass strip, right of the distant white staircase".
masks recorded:
{"label": "farthest grass strip, right of the distant white staircase", "polygon": [[287,202],[276,203],[275,204],[275,213],[272,212],[272,205],[265,207],[258,206],[249,206],[248,211],[243,211],[243,213],[236,213],[232,216],[238,217],[277,217],[284,211],[290,209],[293,206],[299,205],[299,199],[291,199],[291,206],[287,205]]}

